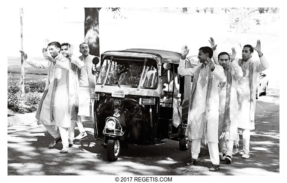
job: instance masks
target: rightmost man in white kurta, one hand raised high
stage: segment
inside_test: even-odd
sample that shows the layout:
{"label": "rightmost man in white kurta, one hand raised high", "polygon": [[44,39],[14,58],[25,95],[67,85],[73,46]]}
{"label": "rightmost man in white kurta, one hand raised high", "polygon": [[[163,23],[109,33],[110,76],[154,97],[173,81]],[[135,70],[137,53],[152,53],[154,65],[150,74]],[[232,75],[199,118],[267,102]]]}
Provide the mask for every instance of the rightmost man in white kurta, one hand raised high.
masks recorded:
{"label": "rightmost man in white kurta, one hand raised high", "polygon": [[[257,51],[260,60],[253,60],[253,50]],[[242,131],[243,152],[242,158],[250,157],[249,141],[250,130],[255,129],[254,115],[256,106],[256,79],[258,73],[266,70],[269,65],[261,52],[261,42],[257,40],[256,47],[249,44],[242,50],[242,59],[235,59],[242,68],[243,77],[238,82],[238,130]]]}

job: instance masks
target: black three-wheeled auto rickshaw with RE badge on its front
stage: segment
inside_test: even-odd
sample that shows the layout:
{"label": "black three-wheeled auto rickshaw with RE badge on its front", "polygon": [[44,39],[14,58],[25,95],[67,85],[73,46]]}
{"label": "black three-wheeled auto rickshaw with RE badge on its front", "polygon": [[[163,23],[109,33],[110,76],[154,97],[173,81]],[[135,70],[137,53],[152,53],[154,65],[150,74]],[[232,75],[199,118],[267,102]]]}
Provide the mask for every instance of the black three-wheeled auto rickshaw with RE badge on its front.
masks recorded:
{"label": "black three-wheeled auto rickshaw with RE badge on its front", "polygon": [[177,74],[180,57],[177,52],[152,49],[101,55],[90,97],[95,101],[95,139],[107,149],[108,161],[116,161],[121,146],[127,144],[160,145],[171,139],[179,141],[180,150],[188,149],[191,77]]}

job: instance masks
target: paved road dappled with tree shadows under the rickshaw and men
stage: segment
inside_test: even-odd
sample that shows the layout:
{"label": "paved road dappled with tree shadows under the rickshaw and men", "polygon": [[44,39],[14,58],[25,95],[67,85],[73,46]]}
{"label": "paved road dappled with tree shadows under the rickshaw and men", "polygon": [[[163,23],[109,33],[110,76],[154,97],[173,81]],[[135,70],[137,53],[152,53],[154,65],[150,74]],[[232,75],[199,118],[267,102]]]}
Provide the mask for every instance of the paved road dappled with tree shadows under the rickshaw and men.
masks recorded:
{"label": "paved road dappled with tree shadows under the rickshaw and men", "polygon": [[267,96],[257,100],[250,158],[241,158],[240,141],[233,162],[221,163],[219,172],[208,171],[211,162],[203,146],[198,165],[184,166],[190,148],[180,151],[178,142],[171,140],[164,145],[129,145],[121,149],[118,161],[108,162],[106,149],[94,139],[92,123],[85,121],[84,126],[87,138],[75,140],[67,154],[60,154],[61,143],[47,148],[53,138],[44,127],[8,127],[8,175],[279,175],[279,87],[269,88]]}

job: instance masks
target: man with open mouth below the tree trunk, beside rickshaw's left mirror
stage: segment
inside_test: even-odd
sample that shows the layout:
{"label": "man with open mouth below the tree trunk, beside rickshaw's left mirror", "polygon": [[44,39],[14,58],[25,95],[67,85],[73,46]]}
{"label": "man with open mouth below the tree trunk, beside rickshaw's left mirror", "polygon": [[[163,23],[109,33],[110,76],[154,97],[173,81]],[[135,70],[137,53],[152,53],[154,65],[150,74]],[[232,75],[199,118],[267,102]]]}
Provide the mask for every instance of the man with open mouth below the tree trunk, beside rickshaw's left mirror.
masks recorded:
{"label": "man with open mouth below the tree trunk, beside rickshaw's left mirror", "polygon": [[[87,43],[80,44],[80,53],[82,56],[79,57],[84,63],[84,67],[78,69],[79,74],[79,113],[77,125],[80,134],[75,139],[82,139],[87,136],[82,123],[82,116],[90,116],[90,102],[92,102],[92,111],[94,107],[94,101],[90,100],[90,93],[95,91],[95,76],[94,70],[95,65],[92,63],[95,56],[89,54],[89,46]],[[92,112],[93,113],[93,112]]]}

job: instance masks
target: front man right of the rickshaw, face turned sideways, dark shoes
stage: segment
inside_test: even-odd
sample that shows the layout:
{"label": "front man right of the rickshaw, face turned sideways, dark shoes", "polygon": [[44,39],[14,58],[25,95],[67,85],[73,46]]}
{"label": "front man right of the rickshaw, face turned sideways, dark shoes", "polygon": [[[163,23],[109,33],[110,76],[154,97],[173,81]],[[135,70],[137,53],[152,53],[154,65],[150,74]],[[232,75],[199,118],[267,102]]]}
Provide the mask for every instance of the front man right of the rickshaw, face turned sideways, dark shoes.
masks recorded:
{"label": "front man right of the rickshaw, face turned sideways, dark shoes", "polygon": [[[191,158],[185,165],[195,165],[197,164],[198,154],[200,152],[200,141],[204,137],[207,139],[208,150],[212,166],[210,171],[219,170],[219,151],[218,151],[218,106],[219,106],[219,96],[218,96],[218,83],[225,82],[226,77],[223,72],[223,68],[220,65],[214,65],[211,61],[213,52],[210,47],[202,47],[199,49],[198,58],[202,63],[193,68],[185,68],[185,57],[188,54],[187,48],[182,49],[182,58],[179,61],[178,73],[182,76],[194,76],[193,85],[194,97],[192,103],[192,109],[189,110],[189,130],[190,138],[192,139],[191,147]],[[198,72],[199,69],[199,73]],[[212,81],[209,81],[209,75]],[[197,78],[195,82],[195,78]],[[211,86],[208,87],[208,83]],[[209,89],[208,89],[209,88]],[[210,90],[210,91],[209,91]],[[206,98],[207,93],[210,93],[209,100]],[[192,100],[192,96],[191,96]],[[206,109],[206,105],[208,109]],[[207,111],[206,111],[207,110]],[[204,115],[206,113],[206,116]],[[204,119],[207,118],[206,123],[206,136],[204,129]],[[216,129],[216,130],[215,130]]]}

